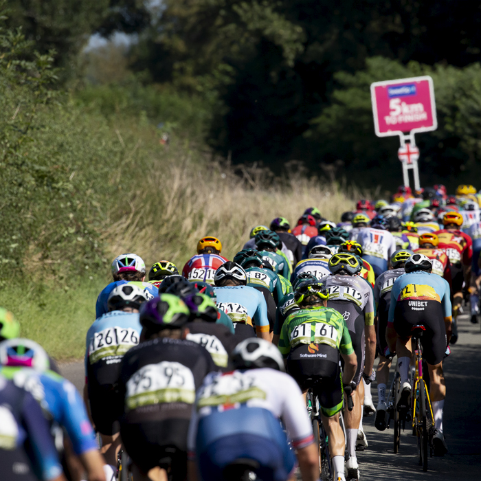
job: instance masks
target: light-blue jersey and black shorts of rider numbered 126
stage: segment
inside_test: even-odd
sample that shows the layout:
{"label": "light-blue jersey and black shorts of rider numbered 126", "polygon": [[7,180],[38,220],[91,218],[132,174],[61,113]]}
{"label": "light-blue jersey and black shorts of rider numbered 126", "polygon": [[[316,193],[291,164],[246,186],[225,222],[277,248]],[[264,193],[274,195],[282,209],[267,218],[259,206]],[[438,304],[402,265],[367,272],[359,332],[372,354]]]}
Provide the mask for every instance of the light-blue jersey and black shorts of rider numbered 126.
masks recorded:
{"label": "light-blue jersey and black shorts of rider numbered 126", "polygon": [[114,434],[113,423],[120,413],[113,409],[122,357],[139,343],[139,315],[112,311],[100,317],[87,331],[85,379],[90,410],[98,432]]}

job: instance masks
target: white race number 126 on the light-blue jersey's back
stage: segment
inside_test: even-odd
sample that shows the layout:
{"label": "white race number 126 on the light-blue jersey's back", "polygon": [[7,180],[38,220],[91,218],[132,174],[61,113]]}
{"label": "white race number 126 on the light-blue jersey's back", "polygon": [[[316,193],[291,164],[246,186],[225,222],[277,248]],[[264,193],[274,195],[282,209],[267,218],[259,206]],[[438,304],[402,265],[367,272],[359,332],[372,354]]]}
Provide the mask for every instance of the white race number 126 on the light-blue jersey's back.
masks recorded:
{"label": "white race number 126 on the light-blue jersey's back", "polygon": [[[109,327],[93,335],[89,344],[89,363],[94,364],[104,358],[109,358],[106,359],[107,363],[120,362],[120,357],[137,344],[139,344],[139,335],[135,329]],[[117,357],[116,361],[115,357]]]}

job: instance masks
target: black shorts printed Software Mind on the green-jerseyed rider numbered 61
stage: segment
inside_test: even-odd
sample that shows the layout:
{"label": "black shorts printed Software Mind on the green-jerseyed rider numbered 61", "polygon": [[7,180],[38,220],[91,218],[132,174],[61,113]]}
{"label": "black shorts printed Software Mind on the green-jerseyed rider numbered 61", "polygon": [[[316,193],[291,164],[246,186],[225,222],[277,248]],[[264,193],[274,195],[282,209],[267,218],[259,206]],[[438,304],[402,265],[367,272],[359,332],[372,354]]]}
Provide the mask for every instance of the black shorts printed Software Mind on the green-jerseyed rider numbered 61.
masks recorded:
{"label": "black shorts printed Software Mind on the green-jerseyed rider numbered 61", "polygon": [[[314,354],[311,354],[313,351]],[[301,344],[291,351],[287,372],[298,382],[301,390],[313,388],[324,416],[334,416],[342,409],[343,391],[337,349],[326,344]]]}

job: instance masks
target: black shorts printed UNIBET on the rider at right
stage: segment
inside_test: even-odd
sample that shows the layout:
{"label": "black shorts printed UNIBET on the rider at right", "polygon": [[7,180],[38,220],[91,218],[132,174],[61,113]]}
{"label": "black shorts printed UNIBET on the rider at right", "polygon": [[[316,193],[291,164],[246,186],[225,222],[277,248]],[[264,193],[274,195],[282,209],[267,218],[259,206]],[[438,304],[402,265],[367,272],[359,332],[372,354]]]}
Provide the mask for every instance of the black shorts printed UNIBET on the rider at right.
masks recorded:
{"label": "black shorts printed UNIBET on the rider at right", "polygon": [[400,337],[412,335],[412,326],[422,324],[426,331],[421,337],[423,357],[429,364],[443,361],[446,350],[446,331],[443,308],[434,300],[403,300],[396,303],[394,329]]}

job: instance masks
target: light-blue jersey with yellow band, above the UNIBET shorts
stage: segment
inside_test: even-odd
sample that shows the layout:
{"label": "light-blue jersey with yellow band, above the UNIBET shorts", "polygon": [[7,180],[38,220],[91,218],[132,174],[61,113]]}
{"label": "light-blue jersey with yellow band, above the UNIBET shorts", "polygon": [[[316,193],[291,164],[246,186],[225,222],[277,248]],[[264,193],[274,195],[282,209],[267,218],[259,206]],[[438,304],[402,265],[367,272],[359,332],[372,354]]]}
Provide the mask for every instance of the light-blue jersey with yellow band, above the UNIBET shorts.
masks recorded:
{"label": "light-blue jersey with yellow band, above the UNIBET shorts", "polygon": [[[403,300],[421,303],[427,301],[440,302],[444,317],[449,317],[451,316],[450,295],[447,280],[438,276],[438,274],[425,271],[405,273],[403,276],[399,276],[392,286],[388,323],[392,326],[396,302]],[[423,308],[423,304],[414,305],[419,305],[419,309]]]}

